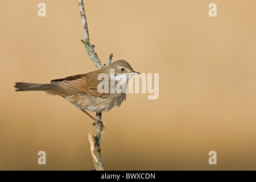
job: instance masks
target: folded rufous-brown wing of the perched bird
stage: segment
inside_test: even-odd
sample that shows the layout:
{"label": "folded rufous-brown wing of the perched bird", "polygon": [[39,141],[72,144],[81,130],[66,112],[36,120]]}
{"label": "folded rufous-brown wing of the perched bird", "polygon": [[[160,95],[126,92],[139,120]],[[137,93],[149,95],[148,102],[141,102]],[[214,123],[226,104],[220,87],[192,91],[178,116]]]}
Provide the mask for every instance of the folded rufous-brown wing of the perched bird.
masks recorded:
{"label": "folded rufous-brown wing of the perched bird", "polygon": [[87,94],[91,97],[108,97],[108,93],[98,93],[97,86],[101,80],[92,80],[85,74],[69,76],[52,80],[51,83],[56,86],[60,86],[63,89],[70,90],[72,92]]}

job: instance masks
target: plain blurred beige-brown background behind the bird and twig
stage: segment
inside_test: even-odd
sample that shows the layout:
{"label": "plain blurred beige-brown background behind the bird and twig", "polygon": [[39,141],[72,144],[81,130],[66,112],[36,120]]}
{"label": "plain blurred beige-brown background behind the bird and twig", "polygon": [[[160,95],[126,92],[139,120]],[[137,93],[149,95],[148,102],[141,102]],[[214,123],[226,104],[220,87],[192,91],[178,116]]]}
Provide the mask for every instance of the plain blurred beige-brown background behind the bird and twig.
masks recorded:
{"label": "plain blurred beige-brown background behind the bird and twig", "polygon": [[[38,3],[46,3],[45,18]],[[210,2],[217,17],[208,16]],[[85,1],[90,41],[105,63],[159,73],[159,98],[128,94],[103,113],[108,170],[256,169],[255,1]],[[0,3],[0,169],[90,170],[92,120],[68,101],[14,92],[96,69],[80,42],[77,1]],[[94,114],[94,113],[92,113]],[[37,163],[38,151],[47,164]],[[208,152],[217,152],[217,165]]]}

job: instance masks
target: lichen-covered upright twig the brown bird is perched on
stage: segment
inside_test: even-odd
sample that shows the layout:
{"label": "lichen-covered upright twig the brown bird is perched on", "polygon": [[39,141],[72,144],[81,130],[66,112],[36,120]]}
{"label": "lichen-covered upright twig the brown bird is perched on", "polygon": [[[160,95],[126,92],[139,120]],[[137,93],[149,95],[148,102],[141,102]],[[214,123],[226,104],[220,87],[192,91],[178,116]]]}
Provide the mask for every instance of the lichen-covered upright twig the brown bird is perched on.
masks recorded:
{"label": "lichen-covered upright twig the brown bird is perched on", "polygon": [[[88,26],[87,26],[85,10],[84,10],[84,2],[82,0],[78,0],[78,2],[79,2],[79,10],[80,10],[80,15],[82,20],[82,30],[84,31],[84,40],[81,40],[81,42],[84,43],[86,52],[88,53],[90,59],[93,61],[96,67],[98,69],[102,69],[105,66],[108,66],[111,64],[113,54],[109,55],[109,58],[106,61],[106,64],[102,66],[100,59],[98,59],[97,53],[94,51],[94,46],[90,44]],[[101,112],[96,113],[96,119],[97,121],[101,121]],[[102,124],[102,122],[98,122],[96,123],[95,127],[96,127],[96,131],[94,136],[92,134],[92,130],[90,131],[90,133],[88,133],[90,151],[92,153],[93,164],[95,169],[97,171],[105,171],[104,164],[101,159],[101,148],[100,148],[100,142],[103,139],[101,137],[101,134],[102,134],[102,129],[104,129],[104,125]]]}

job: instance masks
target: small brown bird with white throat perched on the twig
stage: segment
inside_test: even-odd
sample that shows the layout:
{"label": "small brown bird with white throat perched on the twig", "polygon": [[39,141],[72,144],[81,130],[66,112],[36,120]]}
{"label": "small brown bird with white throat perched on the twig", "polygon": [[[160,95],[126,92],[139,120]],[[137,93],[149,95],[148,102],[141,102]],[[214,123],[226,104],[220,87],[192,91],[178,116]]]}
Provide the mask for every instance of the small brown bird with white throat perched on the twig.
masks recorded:
{"label": "small brown bird with white throat perched on the twig", "polygon": [[[93,118],[86,110],[96,113],[109,111],[114,106],[119,107],[122,102],[126,100],[126,93],[113,93],[110,90],[110,83],[112,82],[110,77],[113,71],[115,73],[114,86],[118,83],[118,74],[126,76],[126,84],[131,76],[139,74],[139,72],[135,72],[125,60],[118,60],[103,69],[98,69],[82,75],[52,80],[51,84],[16,82],[14,87],[16,88],[15,91],[44,91],[50,95],[61,96],[80,108],[84,113],[88,114],[89,117]],[[98,75],[101,73],[105,73],[108,76],[108,92],[98,92],[98,85],[102,82],[102,80],[98,80]],[[97,121],[95,118],[93,119],[96,121],[93,123],[94,125],[101,122]]]}

